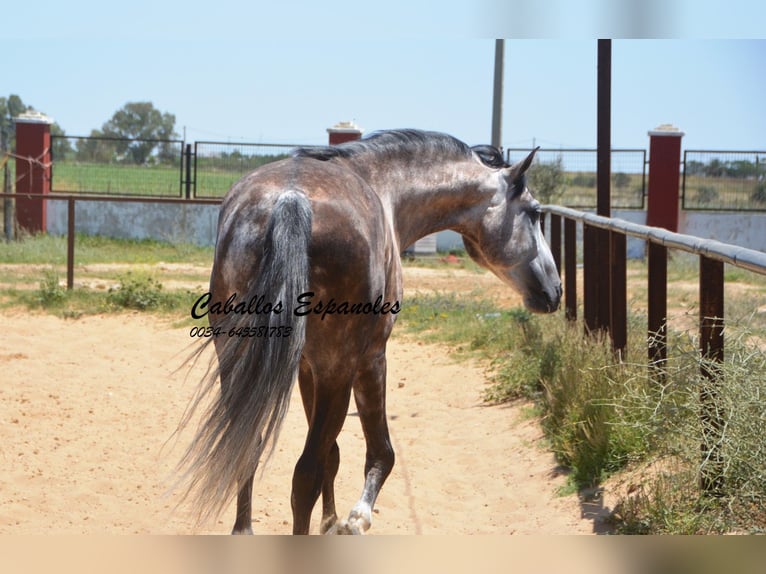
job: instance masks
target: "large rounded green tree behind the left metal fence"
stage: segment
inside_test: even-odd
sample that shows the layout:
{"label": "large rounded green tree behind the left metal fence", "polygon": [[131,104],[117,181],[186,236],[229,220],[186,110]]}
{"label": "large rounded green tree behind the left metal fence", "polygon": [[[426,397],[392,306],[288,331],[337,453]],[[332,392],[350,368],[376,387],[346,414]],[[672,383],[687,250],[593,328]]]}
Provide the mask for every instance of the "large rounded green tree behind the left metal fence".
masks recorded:
{"label": "large rounded green tree behind the left metal fence", "polygon": [[128,102],[101,127],[101,135],[126,140],[116,145],[120,159],[141,165],[150,160],[155,150],[159,150],[160,160],[169,159],[171,146],[149,140],[178,137],[175,123],[173,114],[160,112],[151,102]]}

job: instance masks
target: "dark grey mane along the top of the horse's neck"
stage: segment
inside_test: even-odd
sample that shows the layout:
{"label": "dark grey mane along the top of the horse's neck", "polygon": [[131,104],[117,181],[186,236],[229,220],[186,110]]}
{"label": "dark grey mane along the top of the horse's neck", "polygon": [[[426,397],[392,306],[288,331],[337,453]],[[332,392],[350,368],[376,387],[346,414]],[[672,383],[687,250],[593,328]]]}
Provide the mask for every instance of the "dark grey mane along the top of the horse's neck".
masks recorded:
{"label": "dark grey mane along the top of the horse's neck", "polygon": [[413,129],[374,132],[362,139],[333,146],[300,147],[293,157],[329,161],[334,158],[353,158],[364,153],[390,156],[395,154],[437,154],[444,157],[471,157],[475,153],[485,165],[508,167],[503,154],[489,145],[470,147],[459,139],[441,132]]}

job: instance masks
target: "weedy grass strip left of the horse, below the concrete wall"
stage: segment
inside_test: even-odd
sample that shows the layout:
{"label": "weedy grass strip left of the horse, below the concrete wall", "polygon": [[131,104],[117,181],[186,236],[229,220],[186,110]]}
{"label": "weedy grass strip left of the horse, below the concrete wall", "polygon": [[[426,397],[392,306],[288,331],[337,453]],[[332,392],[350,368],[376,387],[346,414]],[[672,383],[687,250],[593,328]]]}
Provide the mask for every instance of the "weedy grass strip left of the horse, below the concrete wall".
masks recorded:
{"label": "weedy grass strip left of the horse, below the concrete wall", "polygon": [[[30,236],[0,243],[0,264],[11,264],[0,270],[0,284],[4,285],[0,288],[0,307],[23,306],[63,317],[140,310],[184,320],[201,292],[167,289],[165,284],[180,281],[204,289],[212,260],[212,247],[78,235],[75,285],[98,280],[103,288],[76,287],[68,291],[64,286],[66,240],[49,235]],[[183,265],[175,269],[166,268],[163,263]],[[13,264],[19,268],[15,269]],[[104,266],[88,269],[88,265],[97,264]],[[32,285],[39,287],[30,289]]]}

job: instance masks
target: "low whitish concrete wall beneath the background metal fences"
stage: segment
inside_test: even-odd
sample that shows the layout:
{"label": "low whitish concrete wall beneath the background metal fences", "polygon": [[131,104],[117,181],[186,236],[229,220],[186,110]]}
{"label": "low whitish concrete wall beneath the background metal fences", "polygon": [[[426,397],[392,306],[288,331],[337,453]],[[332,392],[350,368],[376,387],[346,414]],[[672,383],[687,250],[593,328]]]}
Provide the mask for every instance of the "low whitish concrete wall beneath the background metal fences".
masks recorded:
{"label": "low whitish concrete wall beneath the background metal fences", "polygon": [[[67,203],[48,204],[48,233],[65,235]],[[78,201],[75,209],[76,230],[85,235],[215,244],[217,205]],[[612,216],[646,224],[645,211],[615,210]],[[578,225],[578,229],[581,227]],[[766,213],[682,211],[679,232],[766,251]],[[429,237],[421,246],[430,251],[434,243],[442,252],[463,246],[460,235],[454,231],[442,231],[436,234],[435,242]],[[628,238],[627,249],[629,257],[643,257],[644,242]]]}

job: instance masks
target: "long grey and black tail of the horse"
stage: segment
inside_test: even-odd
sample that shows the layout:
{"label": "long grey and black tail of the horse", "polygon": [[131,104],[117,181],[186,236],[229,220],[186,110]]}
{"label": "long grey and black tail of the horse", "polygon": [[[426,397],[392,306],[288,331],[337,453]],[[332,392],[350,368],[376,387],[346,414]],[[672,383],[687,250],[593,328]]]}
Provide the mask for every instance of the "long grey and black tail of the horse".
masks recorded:
{"label": "long grey and black tail of the horse", "polygon": [[[311,204],[303,193],[290,190],[277,199],[259,273],[244,301],[263,296],[275,309],[281,302],[281,312],[266,315],[263,337],[236,336],[237,329],[251,326],[261,315],[227,315],[216,341],[218,368],[211,369],[182,422],[188,423],[220,377],[220,394],[206,408],[180,463],[186,469],[186,496],[196,501],[199,521],[218,517],[259,462],[265,462],[262,457],[273,452],[306,341],[306,318],[291,316],[290,306],[308,290],[311,220]],[[282,336],[274,336],[280,327]],[[284,336],[289,327],[289,336]],[[231,329],[234,336],[229,336]]]}

